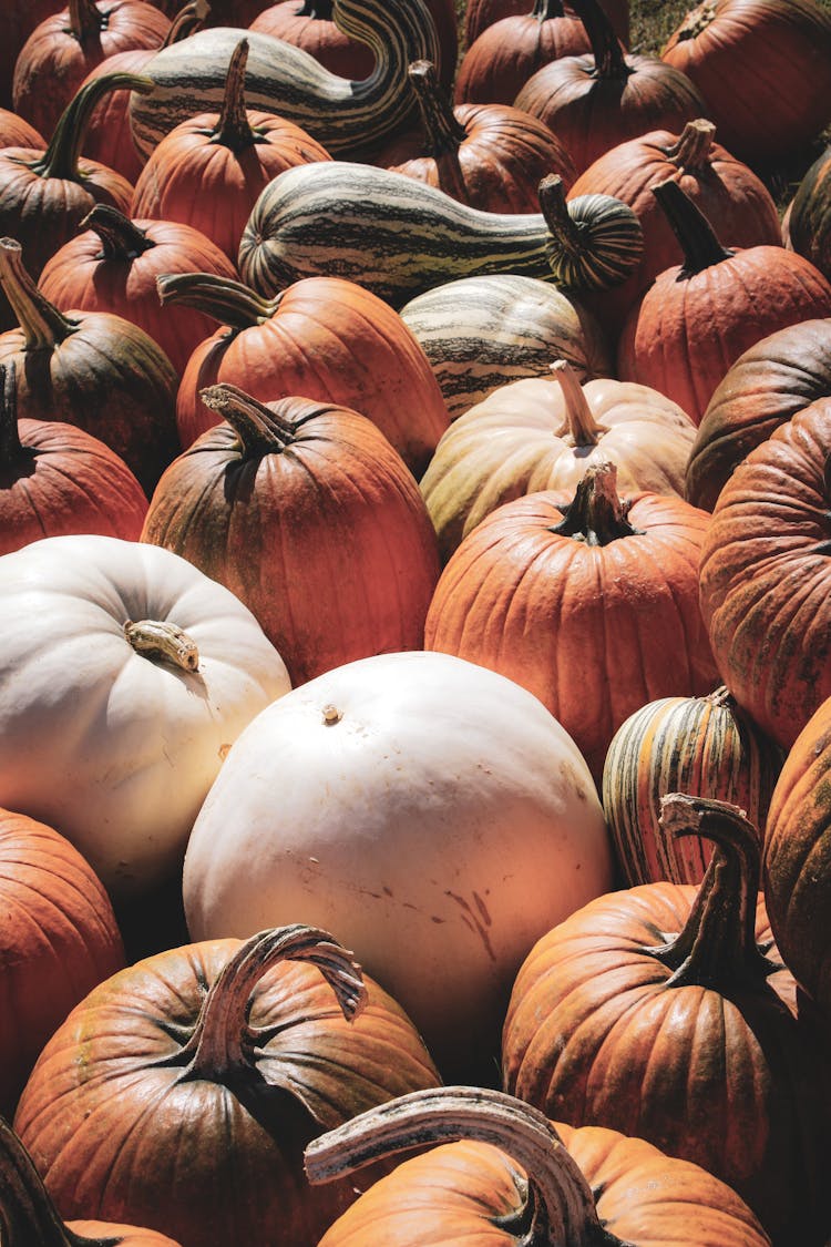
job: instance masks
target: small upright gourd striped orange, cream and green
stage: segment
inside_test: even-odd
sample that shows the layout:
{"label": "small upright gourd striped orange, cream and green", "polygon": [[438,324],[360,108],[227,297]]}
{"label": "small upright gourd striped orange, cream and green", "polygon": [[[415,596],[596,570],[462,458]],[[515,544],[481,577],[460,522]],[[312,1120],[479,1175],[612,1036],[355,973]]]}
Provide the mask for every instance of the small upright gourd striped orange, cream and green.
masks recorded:
{"label": "small upright gourd striped orange, cream and green", "polygon": [[615,732],[603,768],[603,809],[628,885],[704,877],[713,847],[696,835],[668,840],[662,797],[726,801],[764,828],[784,757],[724,686],[635,711]]}

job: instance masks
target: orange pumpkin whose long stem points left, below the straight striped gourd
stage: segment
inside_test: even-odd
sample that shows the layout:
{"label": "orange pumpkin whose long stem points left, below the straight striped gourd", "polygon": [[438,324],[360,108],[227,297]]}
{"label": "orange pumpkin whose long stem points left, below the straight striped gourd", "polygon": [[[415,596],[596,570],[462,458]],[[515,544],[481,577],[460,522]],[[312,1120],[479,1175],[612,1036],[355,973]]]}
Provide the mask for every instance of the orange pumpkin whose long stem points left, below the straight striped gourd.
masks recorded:
{"label": "orange pumpkin whose long stem points left, below the straight striped gourd", "polygon": [[163,306],[218,320],[182,377],[176,419],[183,446],[219,423],[203,388],[228,382],[264,402],[304,395],[373,420],[421,475],[449,418],[430,363],[396,313],[370,291],[314,277],[264,299],[240,282],[193,273],[158,279]]}

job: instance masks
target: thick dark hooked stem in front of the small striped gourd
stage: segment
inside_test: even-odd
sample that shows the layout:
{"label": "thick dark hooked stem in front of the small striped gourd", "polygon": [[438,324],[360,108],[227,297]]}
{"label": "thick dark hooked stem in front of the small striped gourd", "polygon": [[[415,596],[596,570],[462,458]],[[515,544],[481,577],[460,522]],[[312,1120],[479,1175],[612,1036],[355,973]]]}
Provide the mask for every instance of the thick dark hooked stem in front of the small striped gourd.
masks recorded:
{"label": "thick dark hooked stem in front of the small striped gourd", "polygon": [[660,799],[660,826],[668,835],[703,835],[715,843],[713,857],[683,930],[650,949],[672,976],[667,986],[715,988],[766,979],[779,966],[756,944],[756,899],[761,848],[744,811],[725,801],[668,793]]}

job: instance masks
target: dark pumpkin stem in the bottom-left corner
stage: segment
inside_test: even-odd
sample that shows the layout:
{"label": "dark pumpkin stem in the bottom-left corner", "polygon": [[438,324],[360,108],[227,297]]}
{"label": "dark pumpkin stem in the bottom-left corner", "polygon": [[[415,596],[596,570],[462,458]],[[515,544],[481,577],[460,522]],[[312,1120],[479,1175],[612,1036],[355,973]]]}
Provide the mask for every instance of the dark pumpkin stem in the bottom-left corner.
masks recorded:
{"label": "dark pumpkin stem in the bottom-left corner", "polygon": [[0,1117],[0,1242],[5,1247],[113,1247],[112,1237],[82,1238],[67,1230],[35,1162]]}

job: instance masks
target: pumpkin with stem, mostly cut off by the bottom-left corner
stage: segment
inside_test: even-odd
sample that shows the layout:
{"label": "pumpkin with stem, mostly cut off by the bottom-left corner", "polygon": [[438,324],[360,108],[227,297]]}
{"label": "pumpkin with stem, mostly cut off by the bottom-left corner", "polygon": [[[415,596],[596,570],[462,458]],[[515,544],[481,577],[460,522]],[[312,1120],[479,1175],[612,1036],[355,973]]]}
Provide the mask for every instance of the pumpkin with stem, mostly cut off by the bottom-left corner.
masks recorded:
{"label": "pumpkin with stem, mostly cut off by the bottom-left corner", "polygon": [[65,1225],[11,1126],[0,1117],[0,1225],[10,1245],[39,1247],[179,1247],[166,1235],[102,1221]]}

